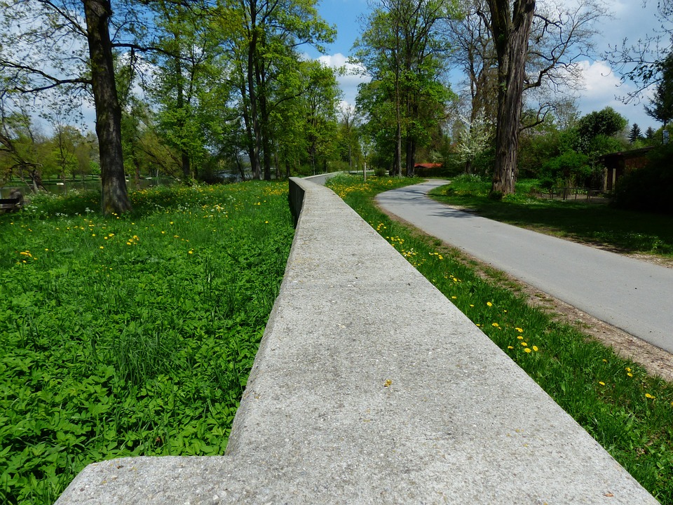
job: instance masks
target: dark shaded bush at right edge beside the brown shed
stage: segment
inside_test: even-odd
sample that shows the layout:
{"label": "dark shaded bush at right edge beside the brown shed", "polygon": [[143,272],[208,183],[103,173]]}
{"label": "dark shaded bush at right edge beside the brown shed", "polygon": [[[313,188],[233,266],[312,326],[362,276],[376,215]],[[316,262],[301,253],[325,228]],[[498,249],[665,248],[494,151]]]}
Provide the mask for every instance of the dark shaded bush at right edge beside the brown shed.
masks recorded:
{"label": "dark shaded bush at right edge beside the brown shed", "polygon": [[620,208],[673,214],[673,144],[653,150],[647,165],[618,180],[613,203]]}

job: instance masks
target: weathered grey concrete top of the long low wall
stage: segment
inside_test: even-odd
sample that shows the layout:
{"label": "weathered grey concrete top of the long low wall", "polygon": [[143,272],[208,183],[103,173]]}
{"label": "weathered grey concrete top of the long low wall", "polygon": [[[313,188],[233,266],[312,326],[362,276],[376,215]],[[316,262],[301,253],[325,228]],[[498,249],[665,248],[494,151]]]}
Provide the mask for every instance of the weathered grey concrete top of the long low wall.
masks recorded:
{"label": "weathered grey concrete top of the long low wall", "polygon": [[224,457],[88,466],[57,504],[655,504],[331,191],[305,190]]}

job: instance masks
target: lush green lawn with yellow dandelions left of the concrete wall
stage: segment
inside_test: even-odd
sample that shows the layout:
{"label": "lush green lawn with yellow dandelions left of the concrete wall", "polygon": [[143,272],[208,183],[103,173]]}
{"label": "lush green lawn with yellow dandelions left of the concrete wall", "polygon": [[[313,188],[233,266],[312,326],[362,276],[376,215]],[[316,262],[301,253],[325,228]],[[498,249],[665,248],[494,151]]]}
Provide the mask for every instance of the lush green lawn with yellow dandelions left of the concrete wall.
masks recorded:
{"label": "lush green lawn with yellow dandelions left of the concrete wall", "polygon": [[0,215],[0,502],[113,457],[222,454],[293,236],[287,183]]}

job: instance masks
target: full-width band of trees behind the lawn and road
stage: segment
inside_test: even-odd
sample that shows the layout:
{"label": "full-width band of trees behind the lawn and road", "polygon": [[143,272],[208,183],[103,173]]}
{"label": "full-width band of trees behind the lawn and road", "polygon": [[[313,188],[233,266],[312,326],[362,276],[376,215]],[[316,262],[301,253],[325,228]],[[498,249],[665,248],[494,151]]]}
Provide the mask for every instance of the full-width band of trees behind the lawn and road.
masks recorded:
{"label": "full-width band of trees behind the lawn and road", "polygon": [[[351,57],[367,76],[355,107],[341,104],[345,70],[301,53],[334,40],[316,0],[0,6],[0,177],[26,177],[38,189],[45,175],[97,167],[104,213],[130,209],[127,177],[189,183],[220,170],[270,179],[365,166],[414,175],[419,161],[488,175],[499,198],[515,191],[520,173],[547,184],[597,177],[601,154],[658,136],[637,125],[625,131],[611,109],[580,118],[568,95],[606,15],[598,0],[372,1]],[[670,0],[659,8],[666,20]],[[615,48],[613,64],[639,61],[625,75],[656,86],[647,112],[666,127],[672,60],[627,53]],[[465,75],[455,90],[453,69]],[[92,102],[97,142],[68,124]],[[34,124],[36,108],[50,119],[47,135]],[[76,132],[86,142],[73,140]],[[60,145],[57,154],[46,144]],[[74,168],[70,144],[80,153],[97,144],[97,155]]]}

